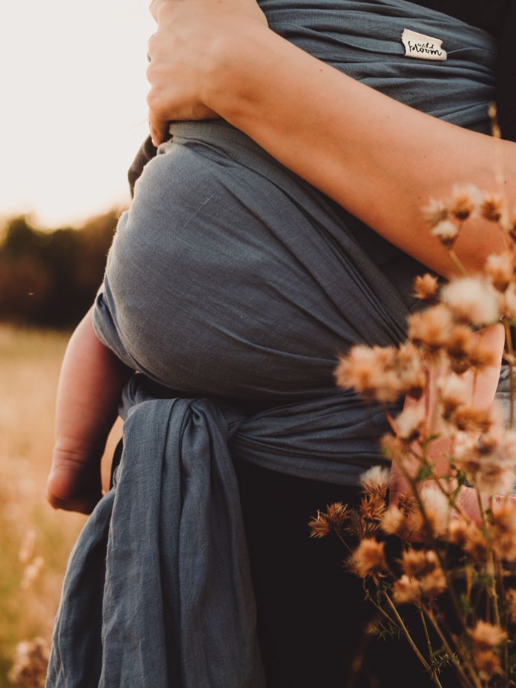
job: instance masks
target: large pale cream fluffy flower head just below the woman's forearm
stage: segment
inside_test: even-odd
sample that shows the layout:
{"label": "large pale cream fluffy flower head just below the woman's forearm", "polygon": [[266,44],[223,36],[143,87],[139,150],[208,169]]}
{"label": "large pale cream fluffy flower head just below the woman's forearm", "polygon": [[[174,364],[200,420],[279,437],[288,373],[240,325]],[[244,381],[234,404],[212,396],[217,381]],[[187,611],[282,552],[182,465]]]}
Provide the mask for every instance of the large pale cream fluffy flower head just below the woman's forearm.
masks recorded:
{"label": "large pale cream fluffy flower head just below the woman's forearm", "polygon": [[442,301],[456,318],[472,325],[491,325],[499,319],[499,296],[490,282],[480,277],[461,277],[442,289]]}

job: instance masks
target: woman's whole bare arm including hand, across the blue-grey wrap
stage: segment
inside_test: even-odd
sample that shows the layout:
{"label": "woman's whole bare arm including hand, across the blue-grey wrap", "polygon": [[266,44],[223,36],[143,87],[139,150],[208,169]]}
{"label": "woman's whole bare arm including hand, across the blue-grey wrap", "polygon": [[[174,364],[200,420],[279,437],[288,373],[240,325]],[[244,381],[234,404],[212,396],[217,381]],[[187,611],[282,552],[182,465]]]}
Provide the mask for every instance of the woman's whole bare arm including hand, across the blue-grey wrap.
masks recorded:
{"label": "woman's whole bare arm including hand, across the blue-grey wrap", "polygon": [[[166,120],[217,113],[392,244],[453,275],[421,208],[455,184],[499,190],[495,173],[514,206],[516,144],[402,105],[248,19],[249,0],[232,0],[231,13],[228,1],[158,8],[149,43],[153,136],[162,138]],[[456,245],[472,270],[502,248],[499,229],[480,221]]]}

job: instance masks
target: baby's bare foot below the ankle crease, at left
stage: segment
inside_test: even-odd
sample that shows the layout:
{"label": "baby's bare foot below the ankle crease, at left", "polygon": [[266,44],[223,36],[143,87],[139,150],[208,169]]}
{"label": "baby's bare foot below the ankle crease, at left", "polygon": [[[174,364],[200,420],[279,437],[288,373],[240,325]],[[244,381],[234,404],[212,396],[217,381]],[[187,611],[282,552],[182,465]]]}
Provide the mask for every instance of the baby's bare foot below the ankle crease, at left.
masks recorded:
{"label": "baby's bare foot below the ankle crease, at left", "polygon": [[47,479],[48,502],[55,509],[90,514],[102,497],[100,456],[78,449],[54,448]]}

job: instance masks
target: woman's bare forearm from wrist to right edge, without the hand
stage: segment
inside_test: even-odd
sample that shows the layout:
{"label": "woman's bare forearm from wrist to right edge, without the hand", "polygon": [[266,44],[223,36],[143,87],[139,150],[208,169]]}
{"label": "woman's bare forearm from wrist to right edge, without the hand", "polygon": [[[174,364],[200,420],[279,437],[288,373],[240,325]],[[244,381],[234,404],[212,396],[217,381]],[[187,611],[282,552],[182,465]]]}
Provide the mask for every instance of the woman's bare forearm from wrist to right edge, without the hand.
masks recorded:
{"label": "woman's bare forearm from wrist to right edge, without the hand", "polygon": [[[279,162],[391,243],[444,277],[454,274],[421,208],[473,183],[516,202],[516,144],[461,129],[398,103],[250,26],[213,44],[206,105]],[[235,54],[239,55],[238,60]],[[456,250],[469,269],[503,248],[499,228],[478,221]]]}

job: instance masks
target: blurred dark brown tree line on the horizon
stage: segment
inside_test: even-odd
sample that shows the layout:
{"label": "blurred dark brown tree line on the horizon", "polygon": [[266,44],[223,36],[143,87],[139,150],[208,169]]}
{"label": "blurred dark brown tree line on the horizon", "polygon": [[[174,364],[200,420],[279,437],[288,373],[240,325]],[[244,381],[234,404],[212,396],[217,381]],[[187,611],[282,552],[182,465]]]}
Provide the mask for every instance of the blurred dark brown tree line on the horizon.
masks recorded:
{"label": "blurred dark brown tree line on the horizon", "polygon": [[118,215],[54,231],[36,228],[25,215],[10,219],[0,231],[0,321],[75,325],[102,281]]}

